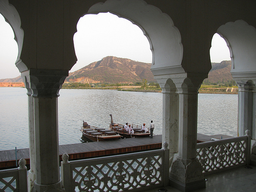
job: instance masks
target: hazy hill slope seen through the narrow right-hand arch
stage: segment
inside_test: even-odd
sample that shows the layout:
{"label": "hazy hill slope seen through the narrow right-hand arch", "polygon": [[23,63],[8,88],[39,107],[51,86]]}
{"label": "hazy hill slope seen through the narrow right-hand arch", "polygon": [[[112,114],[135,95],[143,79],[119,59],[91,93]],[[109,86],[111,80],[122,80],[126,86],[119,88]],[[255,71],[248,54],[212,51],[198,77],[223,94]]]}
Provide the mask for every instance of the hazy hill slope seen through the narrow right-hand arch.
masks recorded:
{"label": "hazy hill slope seen through the narrow right-hand arch", "polygon": [[218,83],[219,82],[227,82],[232,80],[232,76],[230,73],[231,70],[231,60],[224,60],[221,63],[211,63],[212,68],[208,74],[208,78],[204,79],[204,81],[208,81],[210,83]]}

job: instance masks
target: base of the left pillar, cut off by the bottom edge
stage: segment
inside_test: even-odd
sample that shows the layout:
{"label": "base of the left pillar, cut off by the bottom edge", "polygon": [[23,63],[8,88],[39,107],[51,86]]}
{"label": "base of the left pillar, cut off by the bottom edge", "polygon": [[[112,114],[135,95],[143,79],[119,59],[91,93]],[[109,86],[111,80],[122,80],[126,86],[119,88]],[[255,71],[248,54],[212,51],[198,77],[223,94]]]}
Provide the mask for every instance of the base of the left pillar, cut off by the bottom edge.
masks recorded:
{"label": "base of the left pillar, cut off by the bottom edge", "polygon": [[62,181],[60,180],[57,183],[53,183],[53,184],[49,184],[49,185],[42,185],[42,184],[38,184],[36,183],[36,181],[34,181],[33,184],[33,192],[65,192],[65,189],[62,186]]}

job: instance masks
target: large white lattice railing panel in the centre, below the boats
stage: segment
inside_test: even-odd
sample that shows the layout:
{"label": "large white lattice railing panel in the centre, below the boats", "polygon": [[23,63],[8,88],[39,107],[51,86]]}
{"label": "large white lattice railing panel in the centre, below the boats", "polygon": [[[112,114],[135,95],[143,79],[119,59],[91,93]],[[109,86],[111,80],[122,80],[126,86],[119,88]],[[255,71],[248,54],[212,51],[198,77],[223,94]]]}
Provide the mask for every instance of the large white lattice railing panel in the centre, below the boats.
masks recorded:
{"label": "large white lattice railing panel in the centre, below the boats", "polygon": [[[121,155],[71,162],[75,191],[124,191],[162,185],[164,153]],[[82,166],[81,166],[82,165]]]}

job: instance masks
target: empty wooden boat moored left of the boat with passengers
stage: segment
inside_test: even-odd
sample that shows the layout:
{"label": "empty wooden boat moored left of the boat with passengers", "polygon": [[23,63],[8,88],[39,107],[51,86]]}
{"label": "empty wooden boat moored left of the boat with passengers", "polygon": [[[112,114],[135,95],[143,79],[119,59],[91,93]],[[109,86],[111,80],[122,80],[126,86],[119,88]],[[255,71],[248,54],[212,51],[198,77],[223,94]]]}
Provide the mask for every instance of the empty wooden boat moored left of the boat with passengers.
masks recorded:
{"label": "empty wooden boat moored left of the boat with passengers", "polygon": [[91,126],[84,121],[83,121],[81,131],[82,131],[81,139],[83,141],[86,141],[85,138],[91,141],[106,141],[106,140],[115,140],[115,139],[121,138],[121,135],[117,134],[112,130]]}

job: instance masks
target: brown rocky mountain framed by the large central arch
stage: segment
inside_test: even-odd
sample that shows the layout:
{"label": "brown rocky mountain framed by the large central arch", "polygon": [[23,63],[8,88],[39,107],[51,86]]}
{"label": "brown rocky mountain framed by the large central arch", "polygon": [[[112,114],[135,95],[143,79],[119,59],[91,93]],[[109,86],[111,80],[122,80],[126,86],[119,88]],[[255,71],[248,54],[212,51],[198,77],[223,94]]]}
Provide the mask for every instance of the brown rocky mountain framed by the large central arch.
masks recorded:
{"label": "brown rocky mountain framed by the large central arch", "polygon": [[150,70],[151,63],[107,56],[69,74],[67,82],[81,83],[135,83],[146,79],[156,82]]}

